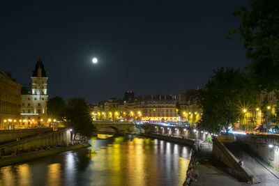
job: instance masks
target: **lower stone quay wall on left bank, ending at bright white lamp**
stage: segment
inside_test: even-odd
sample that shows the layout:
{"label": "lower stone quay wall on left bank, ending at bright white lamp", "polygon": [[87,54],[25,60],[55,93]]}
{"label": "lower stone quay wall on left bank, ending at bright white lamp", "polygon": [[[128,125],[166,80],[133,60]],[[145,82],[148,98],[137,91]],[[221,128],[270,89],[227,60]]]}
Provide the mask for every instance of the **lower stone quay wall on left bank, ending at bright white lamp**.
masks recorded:
{"label": "lower stone quay wall on left bank, ending at bright white lamp", "polygon": [[13,141],[0,146],[1,155],[19,151],[29,151],[43,146],[63,146],[70,143],[70,131],[67,129],[40,133],[34,137]]}

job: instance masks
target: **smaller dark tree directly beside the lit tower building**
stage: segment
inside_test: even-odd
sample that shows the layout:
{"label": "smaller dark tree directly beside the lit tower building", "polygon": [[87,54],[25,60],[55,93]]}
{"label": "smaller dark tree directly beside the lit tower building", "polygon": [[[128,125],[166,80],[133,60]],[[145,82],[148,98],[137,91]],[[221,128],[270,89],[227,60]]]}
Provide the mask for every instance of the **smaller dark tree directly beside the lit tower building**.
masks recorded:
{"label": "smaller dark tree directly beside the lit tower building", "polygon": [[47,101],[47,115],[57,120],[61,120],[65,108],[66,103],[63,98],[59,96],[50,98],[50,100]]}

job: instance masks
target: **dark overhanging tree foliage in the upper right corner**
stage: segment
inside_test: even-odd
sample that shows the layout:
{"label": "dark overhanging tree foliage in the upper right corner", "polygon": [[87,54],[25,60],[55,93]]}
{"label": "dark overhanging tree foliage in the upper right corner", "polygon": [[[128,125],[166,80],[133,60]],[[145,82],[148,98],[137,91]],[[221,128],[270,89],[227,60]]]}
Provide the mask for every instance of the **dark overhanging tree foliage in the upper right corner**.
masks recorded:
{"label": "dark overhanging tree foliage in the upper right corner", "polygon": [[252,0],[250,8],[240,8],[233,13],[241,24],[229,35],[239,33],[252,63],[250,75],[258,88],[271,91],[279,87],[279,1]]}

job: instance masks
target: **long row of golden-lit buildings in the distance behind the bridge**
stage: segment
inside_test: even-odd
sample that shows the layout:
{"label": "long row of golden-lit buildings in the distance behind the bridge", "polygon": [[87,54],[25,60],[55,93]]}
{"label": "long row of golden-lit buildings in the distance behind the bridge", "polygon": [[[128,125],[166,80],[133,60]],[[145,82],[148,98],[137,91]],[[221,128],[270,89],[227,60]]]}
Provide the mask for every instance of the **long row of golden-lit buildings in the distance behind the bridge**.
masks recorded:
{"label": "long row of golden-lit buildings in the distance behind the bridge", "polygon": [[110,98],[92,108],[96,120],[177,121],[176,95],[141,95],[127,91],[123,100]]}

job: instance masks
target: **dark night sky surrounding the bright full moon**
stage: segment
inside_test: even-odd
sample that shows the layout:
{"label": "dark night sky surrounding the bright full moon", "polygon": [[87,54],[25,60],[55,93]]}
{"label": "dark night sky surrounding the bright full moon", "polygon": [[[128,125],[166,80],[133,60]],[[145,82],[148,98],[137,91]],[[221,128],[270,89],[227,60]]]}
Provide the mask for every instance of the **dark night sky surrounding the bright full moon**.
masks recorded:
{"label": "dark night sky surrounding the bright full moon", "polygon": [[[12,3],[13,2],[13,3]],[[249,1],[21,1],[1,3],[0,70],[28,86],[38,56],[50,98],[89,102],[200,88],[213,69],[248,65],[227,31]],[[93,56],[98,63],[93,64]]]}

